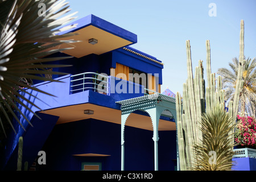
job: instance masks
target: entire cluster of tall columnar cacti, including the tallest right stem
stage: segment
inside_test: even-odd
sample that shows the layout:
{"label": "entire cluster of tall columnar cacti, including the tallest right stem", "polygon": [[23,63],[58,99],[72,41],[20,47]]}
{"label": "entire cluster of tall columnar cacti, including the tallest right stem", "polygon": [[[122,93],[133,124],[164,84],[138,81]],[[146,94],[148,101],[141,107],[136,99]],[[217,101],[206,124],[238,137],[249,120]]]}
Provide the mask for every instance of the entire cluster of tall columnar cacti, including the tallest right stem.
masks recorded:
{"label": "entire cluster of tall columnar cacti, including the tallest right stem", "polygon": [[[229,103],[229,114],[236,121],[238,109],[239,93],[242,86],[242,69],[243,69],[243,20],[241,20],[240,33],[240,67],[238,68],[238,78],[236,87],[236,96],[234,102]],[[193,168],[195,162],[194,144],[203,142],[201,132],[201,115],[209,113],[217,105],[225,106],[224,90],[222,89],[221,76],[217,77],[211,71],[210,60],[210,43],[206,42],[207,48],[207,81],[208,86],[205,88],[203,61],[199,60],[199,66],[195,69],[195,78],[193,78],[191,46],[189,40],[186,42],[187,48],[187,73],[188,79],[183,84],[183,100],[181,101],[180,93],[176,94],[176,113],[177,113],[177,137],[179,143],[179,164],[180,170],[189,170]],[[181,109],[182,108],[182,109]],[[221,107],[224,108],[224,107]],[[232,132],[230,133],[232,134]],[[230,145],[232,146],[232,145]]]}

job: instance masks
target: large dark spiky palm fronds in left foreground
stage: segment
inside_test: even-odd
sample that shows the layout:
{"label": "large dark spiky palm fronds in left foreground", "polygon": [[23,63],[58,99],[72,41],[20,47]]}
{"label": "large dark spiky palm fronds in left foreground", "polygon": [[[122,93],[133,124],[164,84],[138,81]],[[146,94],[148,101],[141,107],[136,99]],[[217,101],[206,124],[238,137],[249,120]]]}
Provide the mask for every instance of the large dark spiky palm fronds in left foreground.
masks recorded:
{"label": "large dark spiky palm fronds in left foreground", "polygon": [[[69,57],[43,57],[63,51],[64,49],[55,48],[60,44],[73,43],[72,40],[68,40],[68,36],[74,34],[60,35],[61,31],[74,27],[71,25],[60,28],[75,18],[73,17],[75,13],[67,15],[69,11],[65,0],[0,0],[0,124],[3,133],[6,122],[15,131],[11,123],[12,118],[22,126],[14,110],[30,123],[17,107],[17,104],[20,104],[33,112],[20,100],[38,107],[23,96],[26,93],[35,97],[26,91],[27,88],[48,94],[32,86],[31,80],[56,81],[43,76],[48,73],[47,69],[67,66],[47,65],[46,62]],[[60,38],[62,40],[58,40]],[[64,73],[52,72],[52,74]]]}

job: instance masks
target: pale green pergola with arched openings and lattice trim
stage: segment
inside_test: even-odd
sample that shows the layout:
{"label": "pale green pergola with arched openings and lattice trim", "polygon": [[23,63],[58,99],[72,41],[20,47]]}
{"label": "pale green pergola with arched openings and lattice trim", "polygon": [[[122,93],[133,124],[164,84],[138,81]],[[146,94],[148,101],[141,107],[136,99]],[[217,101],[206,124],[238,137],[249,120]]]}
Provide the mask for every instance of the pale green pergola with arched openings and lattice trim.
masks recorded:
{"label": "pale green pergola with arched openings and lattice trim", "polygon": [[[125,169],[125,123],[127,118],[133,111],[146,111],[151,118],[153,125],[154,140],[154,160],[155,171],[158,171],[158,125],[160,116],[174,118],[176,123],[176,102],[175,98],[160,93],[150,94],[142,97],[130,98],[128,100],[116,102],[121,104],[121,170]],[[177,123],[176,123],[177,126]],[[176,139],[177,142],[177,139]],[[177,165],[179,168],[179,160],[177,153]]]}

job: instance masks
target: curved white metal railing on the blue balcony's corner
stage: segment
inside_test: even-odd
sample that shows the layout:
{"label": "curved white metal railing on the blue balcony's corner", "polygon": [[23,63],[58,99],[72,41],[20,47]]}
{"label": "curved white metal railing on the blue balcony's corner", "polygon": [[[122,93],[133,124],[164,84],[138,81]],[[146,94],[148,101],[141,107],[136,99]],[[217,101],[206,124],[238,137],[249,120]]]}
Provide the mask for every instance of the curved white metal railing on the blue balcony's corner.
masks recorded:
{"label": "curved white metal railing on the blue balcony's corner", "polygon": [[[98,79],[98,76],[101,79]],[[104,78],[104,80],[102,80]],[[107,81],[105,81],[107,80]],[[104,84],[104,89],[100,89]],[[100,85],[100,87],[98,87]],[[73,92],[84,92],[85,90],[93,90],[94,92],[100,91],[104,93],[108,93],[109,90],[109,77],[94,73],[94,72],[86,72],[80,73],[78,75],[71,76],[71,93]]]}

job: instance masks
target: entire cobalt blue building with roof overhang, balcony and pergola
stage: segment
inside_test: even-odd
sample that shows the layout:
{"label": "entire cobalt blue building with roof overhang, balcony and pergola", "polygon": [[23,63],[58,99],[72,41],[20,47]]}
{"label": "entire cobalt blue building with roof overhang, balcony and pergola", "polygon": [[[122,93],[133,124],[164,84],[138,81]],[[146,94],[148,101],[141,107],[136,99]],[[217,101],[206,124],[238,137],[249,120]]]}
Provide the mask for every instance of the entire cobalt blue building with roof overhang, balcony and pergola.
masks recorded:
{"label": "entire cobalt blue building with roof overhang, balcony and pergola", "polygon": [[[72,67],[49,68],[45,76],[61,82],[35,83],[56,97],[28,90],[39,98],[26,96],[40,107],[31,110],[41,119],[22,108],[33,127],[22,117],[26,131],[14,123],[18,135],[9,135],[1,169],[16,169],[22,136],[23,163],[31,170],[174,171],[175,98],[159,94],[162,61],[130,47],[137,35],[97,16],[73,23],[77,27],[71,32],[79,35],[71,39],[82,42],[49,55],[73,56],[57,61]],[[39,151],[45,152],[46,164],[38,163]]]}

